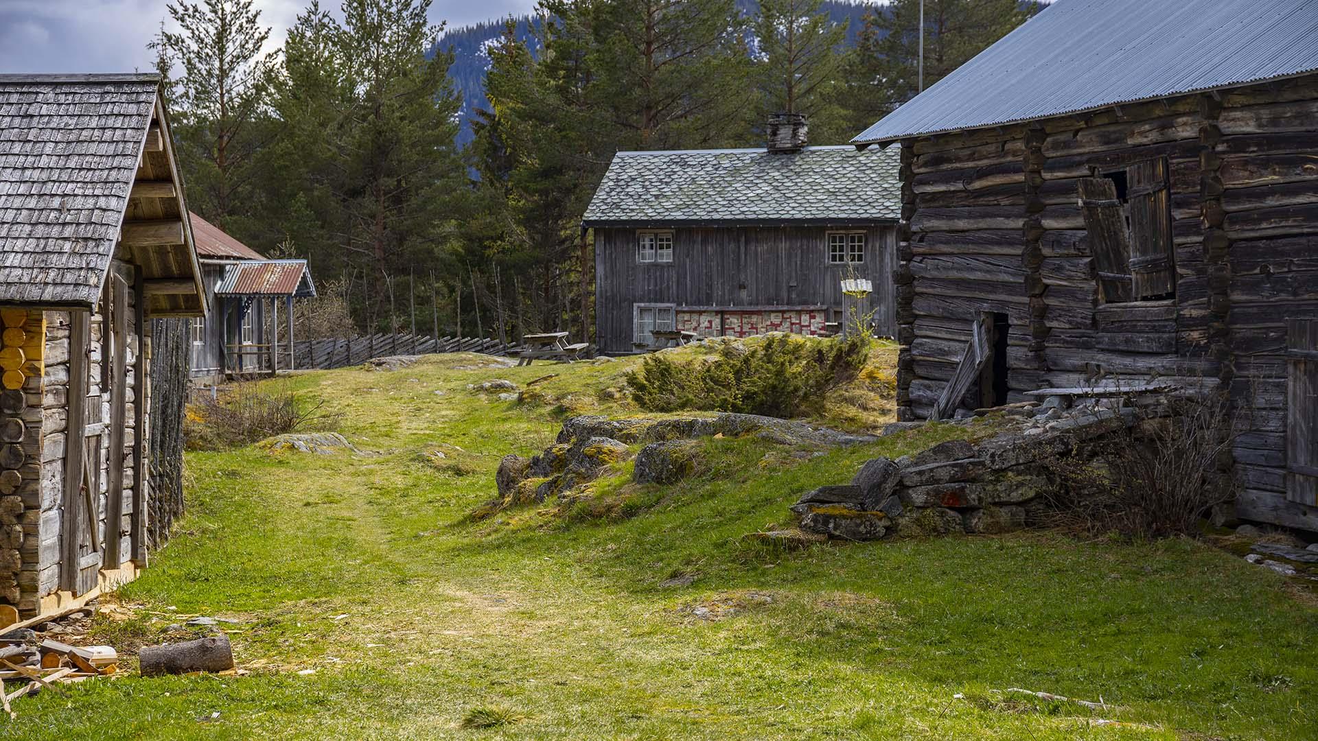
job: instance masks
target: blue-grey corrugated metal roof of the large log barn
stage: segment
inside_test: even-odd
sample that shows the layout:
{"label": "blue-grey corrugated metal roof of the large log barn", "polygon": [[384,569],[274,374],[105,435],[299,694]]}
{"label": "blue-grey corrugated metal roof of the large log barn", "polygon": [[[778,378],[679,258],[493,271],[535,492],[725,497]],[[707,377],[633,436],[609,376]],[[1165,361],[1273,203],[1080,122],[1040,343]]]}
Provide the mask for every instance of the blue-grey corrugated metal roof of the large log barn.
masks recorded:
{"label": "blue-grey corrugated metal roof of the large log barn", "polygon": [[1058,0],[851,141],[1028,121],[1315,70],[1314,0]]}

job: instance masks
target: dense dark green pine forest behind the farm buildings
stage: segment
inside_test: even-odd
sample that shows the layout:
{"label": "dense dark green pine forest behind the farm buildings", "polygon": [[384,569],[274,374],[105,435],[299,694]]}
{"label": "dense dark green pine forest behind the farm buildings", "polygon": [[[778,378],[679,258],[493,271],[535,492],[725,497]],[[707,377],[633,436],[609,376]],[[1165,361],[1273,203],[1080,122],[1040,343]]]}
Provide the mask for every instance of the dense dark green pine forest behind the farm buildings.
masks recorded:
{"label": "dense dark green pine forest behind the farm buildings", "polygon": [[[270,257],[307,258],[340,307],[308,314],[336,315],[337,334],[402,331],[415,302],[443,334],[589,340],[580,218],[614,152],[758,146],[775,111],[807,115],[812,144],[844,144],[916,94],[919,0],[875,5],[859,29],[822,0],[540,0],[486,44],[460,146],[430,5],[308,0],[266,53],[253,0],[175,0],[175,30],[162,21],[152,42],[188,206]],[[925,0],[925,84],[1036,11]]]}

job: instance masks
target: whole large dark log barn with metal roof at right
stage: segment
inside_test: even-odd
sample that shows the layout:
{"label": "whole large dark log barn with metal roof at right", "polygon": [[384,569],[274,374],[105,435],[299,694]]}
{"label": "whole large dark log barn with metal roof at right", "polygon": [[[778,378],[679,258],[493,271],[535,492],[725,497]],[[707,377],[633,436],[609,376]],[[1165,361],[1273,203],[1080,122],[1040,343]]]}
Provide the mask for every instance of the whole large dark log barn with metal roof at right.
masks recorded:
{"label": "whole large dark log barn with metal roof at right", "polygon": [[1238,513],[1318,530],[1315,38],[1306,0],[1060,0],[855,137],[902,145],[900,418],[1211,386]]}

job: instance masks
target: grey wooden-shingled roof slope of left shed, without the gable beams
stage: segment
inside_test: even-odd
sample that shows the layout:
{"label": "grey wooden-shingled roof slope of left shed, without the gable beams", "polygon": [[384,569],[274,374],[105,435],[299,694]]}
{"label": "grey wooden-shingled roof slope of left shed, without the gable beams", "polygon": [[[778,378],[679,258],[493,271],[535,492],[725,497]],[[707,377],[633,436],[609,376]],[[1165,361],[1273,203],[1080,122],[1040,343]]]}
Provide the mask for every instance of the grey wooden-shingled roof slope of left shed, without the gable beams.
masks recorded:
{"label": "grey wooden-shingled roof slope of left shed, without the gable beams", "polygon": [[157,75],[0,75],[0,302],[95,303]]}

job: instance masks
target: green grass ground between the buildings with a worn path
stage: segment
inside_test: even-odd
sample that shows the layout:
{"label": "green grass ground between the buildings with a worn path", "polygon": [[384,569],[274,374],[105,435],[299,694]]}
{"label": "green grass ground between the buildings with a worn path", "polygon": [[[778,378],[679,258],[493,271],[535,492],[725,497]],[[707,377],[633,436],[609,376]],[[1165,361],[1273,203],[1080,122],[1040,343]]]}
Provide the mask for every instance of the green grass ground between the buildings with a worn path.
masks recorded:
{"label": "green grass ground between the buildings with a worn path", "polygon": [[[175,614],[229,617],[249,674],[43,692],[0,719],[4,738],[1318,736],[1314,600],[1202,543],[741,539],[952,426],[805,460],[709,440],[693,480],[600,483],[627,502],[608,516],[473,522],[500,458],[548,444],[564,407],[634,410],[598,393],[626,363],[455,368],[472,363],[279,381],[344,411],[368,455],[188,454],[190,513],[120,591],[134,617],[98,618],[98,637],[132,647],[178,637]],[[544,403],[467,390],[548,373]],[[659,587],[677,575],[695,581]]]}

